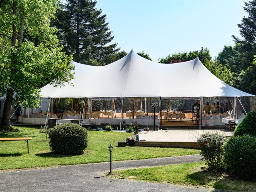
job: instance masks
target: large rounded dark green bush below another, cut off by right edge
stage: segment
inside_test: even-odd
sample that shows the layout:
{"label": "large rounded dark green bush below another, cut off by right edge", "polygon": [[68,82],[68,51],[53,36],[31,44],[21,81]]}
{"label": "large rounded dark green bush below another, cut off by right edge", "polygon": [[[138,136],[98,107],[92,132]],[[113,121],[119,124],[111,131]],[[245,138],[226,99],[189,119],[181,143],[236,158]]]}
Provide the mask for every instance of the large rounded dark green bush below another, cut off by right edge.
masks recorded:
{"label": "large rounded dark green bush below another, cut off by right edge", "polygon": [[224,145],[227,172],[243,180],[256,180],[256,137],[249,134],[230,138]]}

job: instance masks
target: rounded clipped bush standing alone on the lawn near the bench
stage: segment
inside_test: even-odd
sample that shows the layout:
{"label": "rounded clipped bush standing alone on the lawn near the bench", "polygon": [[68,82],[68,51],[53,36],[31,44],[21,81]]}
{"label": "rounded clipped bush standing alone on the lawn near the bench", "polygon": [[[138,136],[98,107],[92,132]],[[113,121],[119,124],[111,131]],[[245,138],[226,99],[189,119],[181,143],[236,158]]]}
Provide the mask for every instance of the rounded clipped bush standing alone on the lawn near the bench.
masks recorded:
{"label": "rounded clipped bush standing alone on the lawn near the bench", "polygon": [[74,123],[64,123],[49,132],[50,150],[56,154],[82,154],[87,148],[86,128]]}

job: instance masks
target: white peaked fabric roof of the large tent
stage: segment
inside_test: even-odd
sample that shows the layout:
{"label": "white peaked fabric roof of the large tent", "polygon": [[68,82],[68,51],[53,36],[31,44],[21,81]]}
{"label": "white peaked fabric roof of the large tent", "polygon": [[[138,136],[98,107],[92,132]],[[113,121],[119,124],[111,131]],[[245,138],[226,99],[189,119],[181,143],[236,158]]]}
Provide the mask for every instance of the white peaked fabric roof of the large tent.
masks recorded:
{"label": "white peaked fabric roof of the large tent", "polygon": [[72,63],[75,66],[74,86],[48,84],[42,88],[42,98],[254,96],[218,79],[198,58],[160,64],[131,51],[106,66]]}

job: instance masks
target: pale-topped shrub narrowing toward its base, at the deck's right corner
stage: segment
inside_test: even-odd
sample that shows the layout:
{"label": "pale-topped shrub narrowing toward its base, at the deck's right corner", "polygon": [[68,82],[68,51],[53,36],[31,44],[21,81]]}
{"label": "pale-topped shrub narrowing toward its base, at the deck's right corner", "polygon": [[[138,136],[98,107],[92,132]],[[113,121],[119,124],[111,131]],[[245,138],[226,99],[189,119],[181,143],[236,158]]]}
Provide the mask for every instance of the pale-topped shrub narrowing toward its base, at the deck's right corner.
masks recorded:
{"label": "pale-topped shrub narrowing toward its base, at the deck's right corner", "polygon": [[222,163],[222,145],[225,141],[225,136],[217,133],[205,133],[198,138],[198,143],[201,147],[200,154],[203,156],[202,160],[206,161],[208,169],[221,170]]}

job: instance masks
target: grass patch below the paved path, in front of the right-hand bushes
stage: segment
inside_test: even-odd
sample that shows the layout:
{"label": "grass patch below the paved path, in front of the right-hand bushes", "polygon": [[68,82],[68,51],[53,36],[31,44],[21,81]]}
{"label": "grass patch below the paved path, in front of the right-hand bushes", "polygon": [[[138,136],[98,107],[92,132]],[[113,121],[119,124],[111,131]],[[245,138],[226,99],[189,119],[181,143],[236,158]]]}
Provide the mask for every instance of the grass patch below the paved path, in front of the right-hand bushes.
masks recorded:
{"label": "grass patch below the paved path, in front of the right-hand bushes", "polygon": [[226,174],[210,172],[206,170],[204,162],[119,170],[114,171],[113,176],[122,179],[202,186],[239,192],[256,192],[256,182],[237,180]]}

